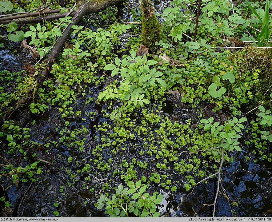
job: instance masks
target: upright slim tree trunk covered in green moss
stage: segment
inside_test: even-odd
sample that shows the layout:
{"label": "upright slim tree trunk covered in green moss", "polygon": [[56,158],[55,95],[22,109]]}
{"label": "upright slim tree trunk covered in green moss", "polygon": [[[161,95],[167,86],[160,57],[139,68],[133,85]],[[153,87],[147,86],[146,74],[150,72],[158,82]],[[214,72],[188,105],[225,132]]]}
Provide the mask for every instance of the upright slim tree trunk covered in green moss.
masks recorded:
{"label": "upright slim tree trunk covered in green moss", "polygon": [[142,36],[141,43],[149,48],[149,51],[158,50],[155,42],[161,39],[161,26],[157,17],[154,15],[151,0],[142,0]]}

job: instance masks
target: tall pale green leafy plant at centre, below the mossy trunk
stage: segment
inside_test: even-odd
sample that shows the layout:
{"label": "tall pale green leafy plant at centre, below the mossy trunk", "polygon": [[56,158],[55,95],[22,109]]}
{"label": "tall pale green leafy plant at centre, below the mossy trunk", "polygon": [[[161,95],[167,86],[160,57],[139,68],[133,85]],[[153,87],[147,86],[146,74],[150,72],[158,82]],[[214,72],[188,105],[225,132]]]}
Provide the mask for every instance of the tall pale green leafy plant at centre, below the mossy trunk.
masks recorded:
{"label": "tall pale green leafy plant at centre, below the mossy trunk", "polygon": [[109,98],[118,98],[124,102],[124,105],[134,106],[149,104],[150,101],[144,98],[146,90],[158,85],[166,87],[166,82],[161,78],[162,72],[158,72],[155,68],[150,69],[150,65],[158,63],[154,60],[147,60],[146,55],[137,56],[136,52],[132,50],[130,56],[126,56],[120,61],[115,58],[115,65],[108,64],[105,70],[112,70],[111,76],[121,73],[121,78],[124,81],[120,82],[119,89],[109,88],[99,93],[98,99],[104,101]]}

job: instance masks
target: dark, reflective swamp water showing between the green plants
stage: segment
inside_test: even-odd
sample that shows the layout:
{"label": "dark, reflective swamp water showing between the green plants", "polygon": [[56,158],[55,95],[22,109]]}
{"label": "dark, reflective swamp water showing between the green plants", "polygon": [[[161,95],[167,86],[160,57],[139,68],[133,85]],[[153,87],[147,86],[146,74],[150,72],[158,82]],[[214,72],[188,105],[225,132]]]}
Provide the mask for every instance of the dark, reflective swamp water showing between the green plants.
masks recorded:
{"label": "dark, reflective swamp water showing between the green plants", "polygon": [[[137,2],[132,2],[136,4]],[[156,3],[156,2],[155,2]],[[160,7],[158,10],[162,11],[163,7],[169,6],[169,2],[157,2]],[[157,4],[156,3],[156,4]],[[126,9],[124,9],[126,11]],[[19,50],[19,49],[18,49]],[[11,55],[7,50],[0,51],[0,57],[3,61],[8,61],[9,65],[12,65],[13,71],[19,71],[22,69],[22,62],[18,61],[16,57]],[[17,67],[17,68],[16,68]],[[18,68],[19,67],[19,68]],[[6,69],[2,66],[1,69]],[[101,91],[101,86],[94,87],[89,85],[86,97],[78,96],[78,103],[73,107],[73,111],[82,111],[81,118],[85,118],[86,121],[82,121],[80,118],[66,117],[62,118],[59,113],[58,107],[50,107],[48,112],[40,116],[36,116],[34,119],[36,123],[34,125],[29,122],[26,127],[30,128],[31,139],[42,143],[43,145],[53,141],[59,141],[61,136],[56,127],[60,130],[65,128],[64,122],[70,121],[69,130],[80,128],[81,125],[88,129],[88,134],[84,136],[86,141],[84,142],[84,149],[80,152],[78,149],[68,148],[66,145],[59,143],[58,147],[53,145],[50,147],[49,152],[45,152],[46,148],[37,148],[35,152],[37,157],[43,160],[51,162],[54,160],[54,165],[48,165],[42,163],[43,174],[38,176],[38,180],[35,183],[19,183],[18,188],[12,183],[5,183],[6,195],[9,198],[10,203],[13,206],[12,216],[54,216],[54,211],[57,209],[60,216],[105,216],[102,211],[98,211],[94,208],[96,201],[95,194],[98,194],[102,188],[102,184],[109,183],[111,187],[114,187],[120,183],[118,178],[113,177],[112,172],[103,175],[102,172],[98,172],[92,163],[91,159],[94,157],[91,154],[91,150],[94,149],[96,144],[101,138],[101,134],[93,129],[94,125],[107,122],[112,123],[110,119],[104,118],[101,115],[102,105],[96,105],[95,100],[86,105],[84,102],[89,97],[98,97],[98,93]],[[106,105],[103,107],[106,109]],[[85,112],[96,111],[95,117],[85,116]],[[168,116],[172,121],[179,120],[182,123],[186,123],[187,119],[191,119],[192,123],[197,122],[197,111],[190,106],[176,109],[171,101],[166,102],[166,106],[163,107],[159,113],[160,116]],[[249,122],[245,127],[249,127]],[[94,137],[98,139],[95,140]],[[81,136],[81,138],[83,138]],[[232,163],[224,163],[222,170],[222,185],[225,189],[229,200],[223,197],[222,194],[218,195],[216,204],[216,216],[271,216],[271,163],[267,160],[262,160],[261,156],[252,154],[254,145],[244,145],[243,141],[250,140],[249,134],[243,132],[241,139],[242,152],[232,154],[234,161]],[[138,148],[133,149],[131,142],[138,143]],[[128,141],[124,146],[128,146],[125,152],[119,156],[113,157],[114,161],[118,159],[131,160],[134,157],[141,159],[142,161],[148,161],[150,163],[150,169],[155,169],[154,163],[150,162],[150,158],[139,157],[138,151],[144,143],[141,138],[137,138],[135,141]],[[268,149],[271,149],[271,144],[267,145]],[[251,155],[249,155],[251,153]],[[111,155],[107,153],[107,150],[103,153],[105,159]],[[75,161],[68,163],[68,156],[72,156]],[[250,160],[246,159],[246,156],[250,156]],[[253,160],[257,160],[254,162]],[[86,173],[77,173],[78,169],[82,169],[83,166],[89,163],[91,167],[91,173],[89,181],[84,182]],[[113,163],[114,165],[114,163]],[[70,170],[70,172],[69,172]],[[205,169],[203,169],[205,170]],[[74,173],[74,177],[71,176]],[[137,172],[138,175],[141,172]],[[149,172],[143,172],[148,175]],[[170,171],[170,178],[177,185],[177,181],[182,181],[181,176],[176,175]],[[110,182],[110,179],[112,181]],[[73,186],[69,186],[73,184]],[[85,184],[85,185],[84,185]],[[211,204],[214,201],[214,196],[217,187],[217,178],[209,180],[205,185],[198,185],[194,193],[185,200],[181,205],[181,201],[188,194],[180,185],[178,186],[175,194],[171,192],[165,192],[158,190],[164,195],[162,204],[158,206],[161,215],[168,214],[168,216],[211,216],[213,208],[210,206],[203,206],[203,204]],[[94,188],[94,192],[89,192],[90,188]],[[151,187],[156,190],[156,187]],[[54,203],[58,202],[58,208],[54,207]],[[238,205],[234,206],[233,203],[237,202]],[[180,205],[180,206],[179,206]],[[232,212],[233,210],[233,212]]]}

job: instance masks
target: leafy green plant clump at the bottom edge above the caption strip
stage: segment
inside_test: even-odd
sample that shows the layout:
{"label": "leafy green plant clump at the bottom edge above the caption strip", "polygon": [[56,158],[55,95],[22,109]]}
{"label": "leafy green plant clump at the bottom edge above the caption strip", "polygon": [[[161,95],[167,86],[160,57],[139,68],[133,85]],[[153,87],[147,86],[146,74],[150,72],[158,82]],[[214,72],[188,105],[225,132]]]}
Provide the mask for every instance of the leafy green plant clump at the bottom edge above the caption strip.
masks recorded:
{"label": "leafy green plant clump at the bottom edge above the caption strip", "polygon": [[128,188],[124,188],[122,184],[118,185],[118,188],[115,189],[115,194],[111,198],[102,194],[95,206],[98,209],[102,209],[106,204],[106,214],[112,217],[128,217],[129,213],[134,214],[131,216],[140,217],[160,216],[160,212],[156,212],[156,205],[162,202],[163,196],[161,194],[157,196],[153,193],[150,196],[149,193],[145,192],[147,186],[142,184],[141,180],[138,180],[136,183],[128,181],[127,186]]}

